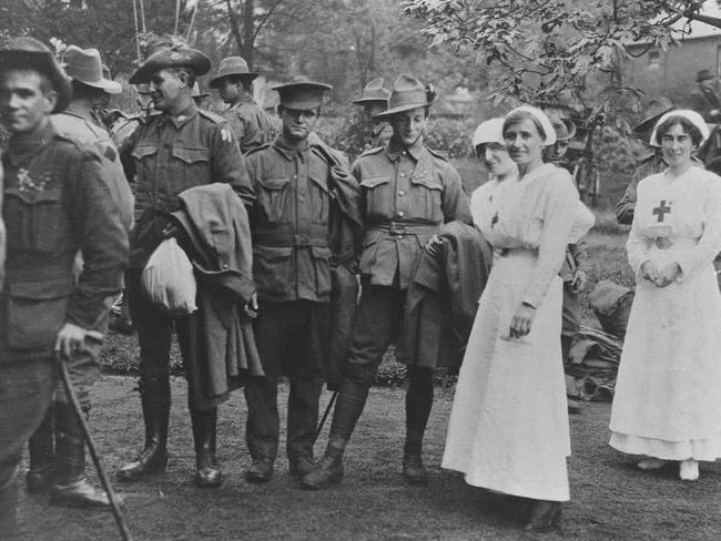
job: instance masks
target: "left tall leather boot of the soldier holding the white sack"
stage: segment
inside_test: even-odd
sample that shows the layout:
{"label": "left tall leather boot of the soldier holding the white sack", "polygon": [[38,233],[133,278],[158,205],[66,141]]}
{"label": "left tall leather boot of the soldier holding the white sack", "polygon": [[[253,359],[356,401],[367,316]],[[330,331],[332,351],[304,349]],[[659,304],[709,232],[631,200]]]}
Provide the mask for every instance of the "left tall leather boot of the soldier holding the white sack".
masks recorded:
{"label": "left tall leather boot of the soldier holding the white sack", "polygon": [[135,481],[163,471],[167,465],[167,422],[170,417],[170,380],[149,379],[140,382],[140,399],[145,421],[145,447],[132,462],[121,467],[119,481]]}

